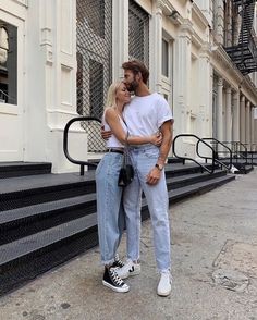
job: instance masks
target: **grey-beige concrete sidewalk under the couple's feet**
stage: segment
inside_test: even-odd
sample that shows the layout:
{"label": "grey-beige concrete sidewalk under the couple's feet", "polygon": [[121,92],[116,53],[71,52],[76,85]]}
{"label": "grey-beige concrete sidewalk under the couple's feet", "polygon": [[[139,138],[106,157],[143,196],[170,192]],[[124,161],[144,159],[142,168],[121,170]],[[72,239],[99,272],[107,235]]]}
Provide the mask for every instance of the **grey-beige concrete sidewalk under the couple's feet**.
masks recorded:
{"label": "grey-beige concrete sidewalk under the couple's feet", "polygon": [[[1,320],[257,320],[257,170],[171,206],[173,285],[156,294],[150,221],[131,291],[101,285],[96,247],[0,298]],[[125,235],[120,254],[125,255]]]}

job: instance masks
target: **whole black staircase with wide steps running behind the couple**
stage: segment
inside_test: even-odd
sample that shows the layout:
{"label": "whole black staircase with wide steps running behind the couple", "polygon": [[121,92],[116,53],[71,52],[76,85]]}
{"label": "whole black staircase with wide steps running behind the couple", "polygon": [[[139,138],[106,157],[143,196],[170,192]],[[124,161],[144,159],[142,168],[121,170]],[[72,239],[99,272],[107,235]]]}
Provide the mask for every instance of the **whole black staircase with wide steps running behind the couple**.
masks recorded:
{"label": "whole black staircase with wide steps running behind the couple", "polygon": [[[170,202],[234,180],[170,159]],[[0,163],[0,295],[98,244],[95,171],[51,174],[50,163]],[[144,197],[144,196],[143,196]],[[149,217],[145,198],[142,218]]]}

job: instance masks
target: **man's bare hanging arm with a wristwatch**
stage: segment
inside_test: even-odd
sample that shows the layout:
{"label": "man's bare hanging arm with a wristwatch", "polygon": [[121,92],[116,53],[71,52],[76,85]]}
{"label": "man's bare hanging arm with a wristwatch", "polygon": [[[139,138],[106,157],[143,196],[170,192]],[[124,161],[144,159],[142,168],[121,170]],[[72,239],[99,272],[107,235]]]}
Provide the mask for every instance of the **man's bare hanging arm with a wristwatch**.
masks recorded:
{"label": "man's bare hanging arm with a wristwatch", "polygon": [[[162,134],[162,144],[160,146],[160,155],[157,160],[157,164],[159,164],[160,167],[164,165],[166,159],[171,148],[173,137],[173,119],[170,121],[166,121],[160,127],[160,132]],[[150,185],[155,185],[160,180],[160,176],[161,170],[155,167],[147,175],[147,183]]]}

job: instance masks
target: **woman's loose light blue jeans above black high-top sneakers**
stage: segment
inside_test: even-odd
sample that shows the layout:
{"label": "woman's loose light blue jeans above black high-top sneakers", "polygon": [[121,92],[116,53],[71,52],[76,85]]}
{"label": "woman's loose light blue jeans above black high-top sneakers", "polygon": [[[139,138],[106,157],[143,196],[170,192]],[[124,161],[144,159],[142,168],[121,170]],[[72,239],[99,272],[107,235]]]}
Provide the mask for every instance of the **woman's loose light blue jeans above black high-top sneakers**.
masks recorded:
{"label": "woman's loose light blue jeans above black high-top sneakers", "polygon": [[100,256],[102,264],[111,264],[124,229],[122,210],[122,187],[118,177],[123,155],[106,153],[96,170],[97,221]]}

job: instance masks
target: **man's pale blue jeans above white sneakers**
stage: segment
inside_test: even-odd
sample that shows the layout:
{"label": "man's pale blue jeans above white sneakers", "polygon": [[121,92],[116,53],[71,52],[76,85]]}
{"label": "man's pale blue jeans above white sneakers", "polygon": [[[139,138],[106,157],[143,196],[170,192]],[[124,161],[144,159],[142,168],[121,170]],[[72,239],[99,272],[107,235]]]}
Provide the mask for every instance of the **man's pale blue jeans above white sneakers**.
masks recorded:
{"label": "man's pale blue jeans above white sneakers", "polygon": [[127,258],[139,259],[140,241],[140,202],[142,189],[146,196],[150,212],[157,268],[167,271],[171,268],[169,199],[164,170],[156,185],[148,185],[146,176],[155,167],[159,157],[159,148],[145,145],[130,148],[130,157],[135,170],[133,182],[124,190],[124,211],[127,232]]}

